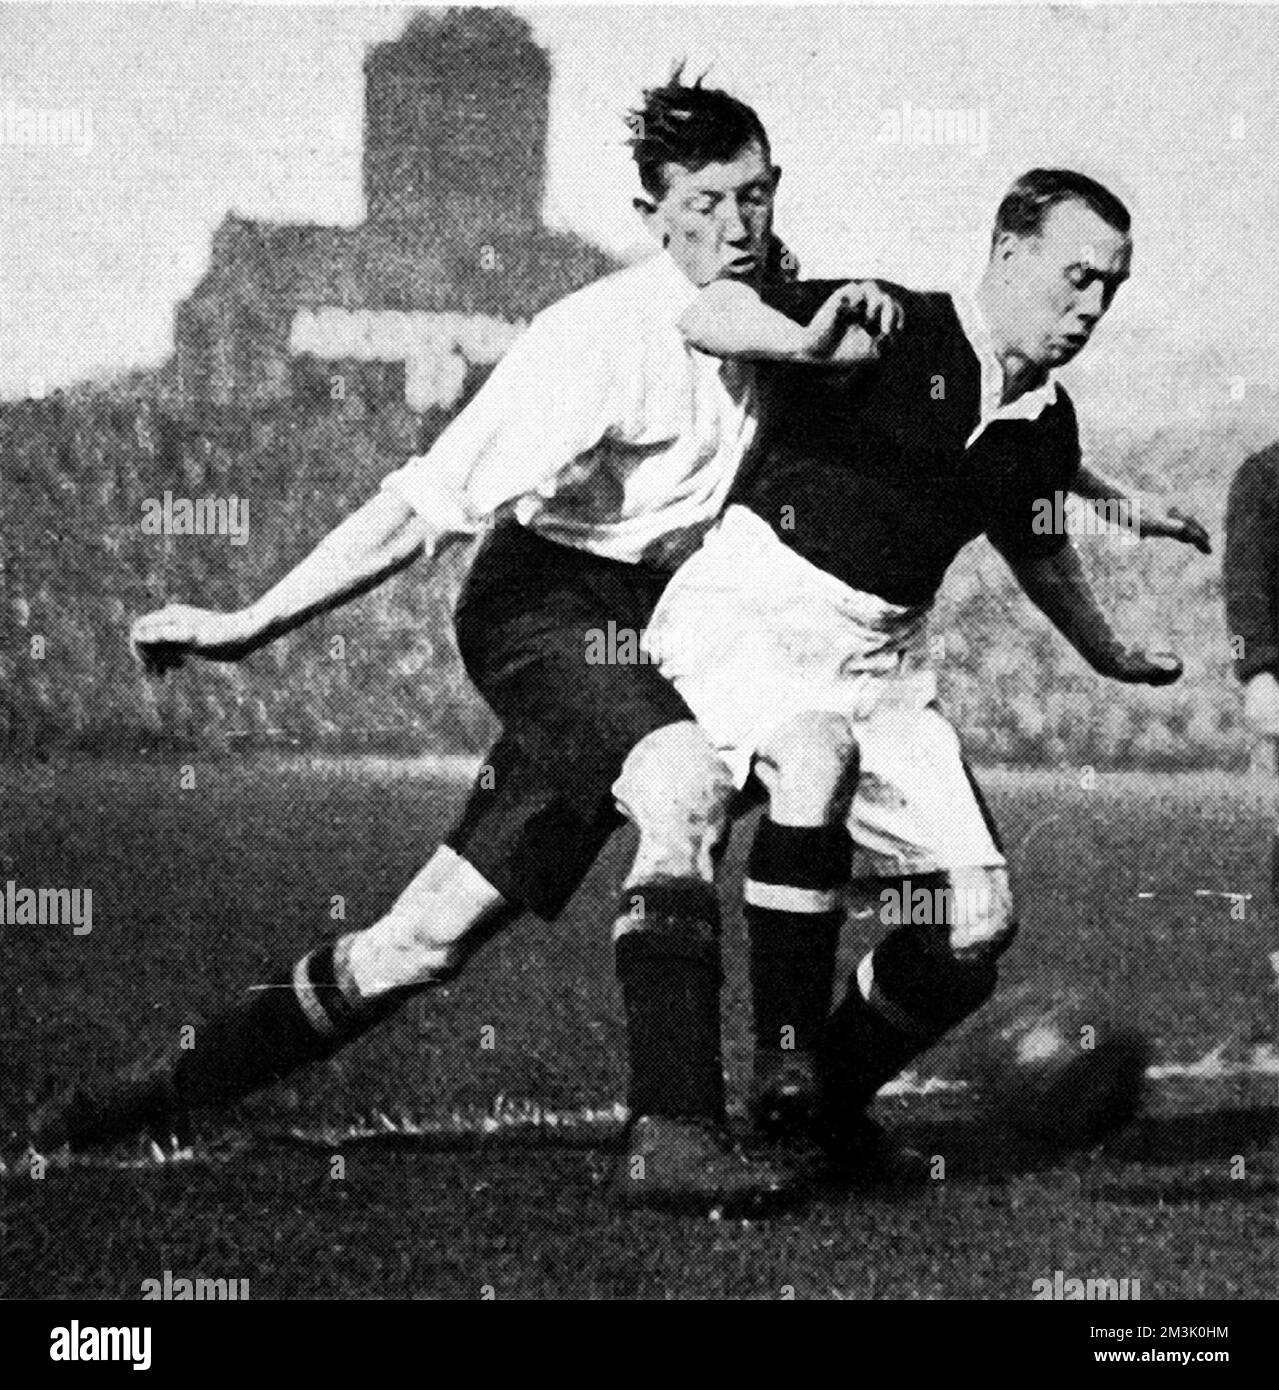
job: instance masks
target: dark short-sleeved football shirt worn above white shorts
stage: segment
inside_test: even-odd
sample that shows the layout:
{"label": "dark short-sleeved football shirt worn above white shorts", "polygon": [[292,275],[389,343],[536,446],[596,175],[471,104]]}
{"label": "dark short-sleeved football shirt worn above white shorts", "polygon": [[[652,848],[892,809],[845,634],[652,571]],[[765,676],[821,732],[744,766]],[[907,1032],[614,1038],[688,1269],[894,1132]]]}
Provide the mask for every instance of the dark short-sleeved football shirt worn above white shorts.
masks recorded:
{"label": "dark short-sleeved football shirt worn above white shorts", "polygon": [[[779,285],[765,297],[808,322],[840,284]],[[1055,495],[1075,481],[1079,428],[1058,388],[1036,420],[997,418],[969,449],[981,367],[954,302],[886,288],[901,299],[905,327],[872,367],[760,368],[765,425],[728,500],[851,588],[913,606],[933,600],[983,532],[1011,560],[1068,542],[1044,516],[1061,514]]]}

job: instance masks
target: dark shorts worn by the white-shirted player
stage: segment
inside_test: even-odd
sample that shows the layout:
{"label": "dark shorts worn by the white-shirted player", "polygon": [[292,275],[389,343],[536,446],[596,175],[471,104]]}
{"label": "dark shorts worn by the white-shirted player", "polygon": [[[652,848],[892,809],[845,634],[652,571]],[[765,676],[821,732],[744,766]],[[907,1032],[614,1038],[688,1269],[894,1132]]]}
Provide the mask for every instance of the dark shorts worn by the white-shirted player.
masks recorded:
{"label": "dark shorts worn by the white-shirted player", "polygon": [[610,624],[609,655],[638,638],[669,578],[503,523],[462,591],[457,646],[502,737],[448,844],[539,917],[559,915],[621,824],[612,787],[627,753],[692,719],[656,667],[587,660]]}

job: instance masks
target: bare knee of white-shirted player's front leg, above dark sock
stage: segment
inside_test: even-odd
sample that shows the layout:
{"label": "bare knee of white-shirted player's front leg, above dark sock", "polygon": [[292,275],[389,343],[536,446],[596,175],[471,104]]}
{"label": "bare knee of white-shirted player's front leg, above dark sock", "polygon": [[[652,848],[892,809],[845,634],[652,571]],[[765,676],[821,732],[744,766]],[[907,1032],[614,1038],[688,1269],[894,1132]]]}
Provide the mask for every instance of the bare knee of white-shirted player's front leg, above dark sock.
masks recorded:
{"label": "bare knee of white-shirted player's front leg, above dark sock", "polygon": [[613,795],[640,831],[628,883],[690,876],[710,881],[728,824],[733,774],[696,724],[667,724],[642,738]]}

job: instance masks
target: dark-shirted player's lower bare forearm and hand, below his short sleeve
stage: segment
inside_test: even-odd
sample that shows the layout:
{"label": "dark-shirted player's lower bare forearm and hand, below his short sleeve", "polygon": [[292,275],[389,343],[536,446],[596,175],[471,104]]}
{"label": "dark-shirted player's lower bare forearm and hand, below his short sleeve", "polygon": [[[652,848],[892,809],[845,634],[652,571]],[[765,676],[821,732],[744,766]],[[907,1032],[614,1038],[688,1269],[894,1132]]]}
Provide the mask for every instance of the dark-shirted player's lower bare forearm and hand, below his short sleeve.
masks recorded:
{"label": "dark-shirted player's lower bare forearm and hand, below his short sleeve", "polygon": [[1047,557],[1008,557],[1018,582],[1076,652],[1101,676],[1132,685],[1171,685],[1182,663],[1169,652],[1125,646],[1089,587],[1069,542]]}

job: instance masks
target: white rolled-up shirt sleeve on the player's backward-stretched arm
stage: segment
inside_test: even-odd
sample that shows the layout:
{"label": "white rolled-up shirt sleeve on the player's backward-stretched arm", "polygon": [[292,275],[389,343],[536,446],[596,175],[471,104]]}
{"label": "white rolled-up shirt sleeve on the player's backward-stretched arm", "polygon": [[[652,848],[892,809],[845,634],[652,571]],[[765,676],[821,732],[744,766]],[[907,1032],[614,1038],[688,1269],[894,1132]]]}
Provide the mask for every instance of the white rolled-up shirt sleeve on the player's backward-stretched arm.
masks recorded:
{"label": "white rolled-up shirt sleeve on the player's backward-stretched arm", "polygon": [[448,534],[478,530],[516,498],[552,496],[610,428],[617,356],[580,306],[539,314],[435,443],[382,488]]}

